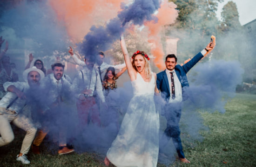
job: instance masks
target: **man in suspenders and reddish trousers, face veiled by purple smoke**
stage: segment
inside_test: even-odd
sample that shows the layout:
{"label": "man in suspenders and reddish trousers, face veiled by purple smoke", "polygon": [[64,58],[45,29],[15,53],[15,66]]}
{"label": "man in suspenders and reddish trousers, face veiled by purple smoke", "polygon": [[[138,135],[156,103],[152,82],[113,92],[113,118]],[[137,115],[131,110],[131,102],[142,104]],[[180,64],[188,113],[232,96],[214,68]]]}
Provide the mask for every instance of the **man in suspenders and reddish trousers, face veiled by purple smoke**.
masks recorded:
{"label": "man in suspenders and reddish trousers, face veiled by purple smoke", "polygon": [[[74,55],[72,48],[69,53]],[[81,125],[88,125],[90,116],[91,121],[100,126],[100,112],[93,95],[95,90],[102,105],[107,108],[102,91],[101,78],[99,72],[94,69],[95,59],[93,57],[85,57],[85,63],[83,70],[78,71],[72,84],[72,90],[74,90],[77,98],[77,112]]]}

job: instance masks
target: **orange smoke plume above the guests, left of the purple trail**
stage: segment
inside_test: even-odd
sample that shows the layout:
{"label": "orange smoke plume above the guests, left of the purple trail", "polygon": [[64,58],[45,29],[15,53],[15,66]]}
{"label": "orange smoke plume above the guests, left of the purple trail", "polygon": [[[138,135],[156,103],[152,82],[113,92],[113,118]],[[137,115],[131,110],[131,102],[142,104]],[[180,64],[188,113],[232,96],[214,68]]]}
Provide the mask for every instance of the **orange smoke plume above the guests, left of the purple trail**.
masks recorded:
{"label": "orange smoke plume above the guests, left of the purple trail", "polygon": [[74,43],[81,42],[93,25],[103,25],[114,18],[121,2],[127,0],[48,0],[59,21],[64,21]]}

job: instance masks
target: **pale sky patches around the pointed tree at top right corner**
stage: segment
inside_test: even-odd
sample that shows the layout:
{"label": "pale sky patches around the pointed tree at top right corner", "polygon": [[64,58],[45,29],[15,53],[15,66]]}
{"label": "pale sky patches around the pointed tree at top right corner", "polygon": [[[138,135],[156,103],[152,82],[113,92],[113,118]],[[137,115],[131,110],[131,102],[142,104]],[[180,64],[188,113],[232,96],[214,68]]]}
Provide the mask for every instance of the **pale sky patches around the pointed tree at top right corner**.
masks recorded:
{"label": "pale sky patches around the pointed tree at top right corner", "polygon": [[224,0],[218,5],[217,17],[221,20],[221,12],[224,5],[229,1],[236,3],[237,10],[239,13],[239,21],[241,25],[245,25],[250,21],[256,19],[256,0]]}

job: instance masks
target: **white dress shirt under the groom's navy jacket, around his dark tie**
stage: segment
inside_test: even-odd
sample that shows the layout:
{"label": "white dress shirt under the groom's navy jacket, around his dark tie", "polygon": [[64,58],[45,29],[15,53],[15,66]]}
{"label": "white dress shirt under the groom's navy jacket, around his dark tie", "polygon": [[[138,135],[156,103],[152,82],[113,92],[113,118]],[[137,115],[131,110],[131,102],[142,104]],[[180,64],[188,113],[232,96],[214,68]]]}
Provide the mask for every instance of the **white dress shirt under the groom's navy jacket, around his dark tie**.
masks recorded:
{"label": "white dress shirt under the groom's navy jacket, around his dark tie", "polygon": [[[177,103],[177,102],[182,102],[182,84],[179,80],[179,78],[176,75],[175,70],[169,71],[168,69],[165,70],[167,77],[168,77],[168,83],[169,83],[169,90],[170,90],[170,98],[169,98],[169,103]],[[175,98],[173,99],[171,94],[172,90],[172,82],[171,82],[171,74],[170,72],[173,72],[173,78],[174,78],[174,87],[175,87]]]}

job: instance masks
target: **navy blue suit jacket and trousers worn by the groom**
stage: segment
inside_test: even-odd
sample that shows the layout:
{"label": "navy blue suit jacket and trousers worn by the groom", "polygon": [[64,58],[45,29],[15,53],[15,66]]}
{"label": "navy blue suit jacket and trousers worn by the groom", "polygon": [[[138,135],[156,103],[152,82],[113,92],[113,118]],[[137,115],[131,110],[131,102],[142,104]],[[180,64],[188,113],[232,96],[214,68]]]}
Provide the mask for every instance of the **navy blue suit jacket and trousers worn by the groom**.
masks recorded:
{"label": "navy blue suit jacket and trousers worn by the groom", "polygon": [[[199,52],[197,55],[195,55],[194,58],[192,58],[188,63],[175,66],[175,73],[177,77],[179,78],[179,81],[182,85],[182,100],[186,100],[189,97],[189,82],[187,78],[187,72],[199,61],[203,58],[203,55],[201,52]],[[161,91],[162,97],[166,99],[168,102],[170,98],[170,88],[169,88],[169,82],[168,77],[166,75],[166,71],[162,71],[157,74],[156,79],[156,86],[157,89]],[[179,128],[179,121],[181,118],[181,103],[167,103],[164,106],[164,116],[167,119],[167,128],[164,131],[164,134],[168,137],[168,140],[172,138],[174,146],[177,150],[179,158],[185,158],[183,150],[182,150],[182,142],[180,138],[180,128]],[[167,142],[168,142],[167,140]],[[163,141],[163,140],[162,140]],[[164,147],[167,143],[160,144],[160,152],[161,146]]]}

